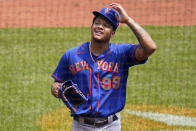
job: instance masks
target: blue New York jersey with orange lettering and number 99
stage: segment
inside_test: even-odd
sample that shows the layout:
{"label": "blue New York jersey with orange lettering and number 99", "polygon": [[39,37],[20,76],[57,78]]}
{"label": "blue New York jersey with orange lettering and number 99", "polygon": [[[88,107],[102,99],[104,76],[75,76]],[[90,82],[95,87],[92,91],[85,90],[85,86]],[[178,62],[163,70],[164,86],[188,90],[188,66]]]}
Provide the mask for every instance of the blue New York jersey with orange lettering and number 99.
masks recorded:
{"label": "blue New York jersey with orange lettering and number 99", "polygon": [[125,106],[129,67],[144,64],[147,59],[135,59],[137,44],[110,43],[108,50],[93,61],[89,44],[67,50],[51,76],[59,82],[72,80],[87,97],[88,101],[78,106],[72,116],[109,116]]}

